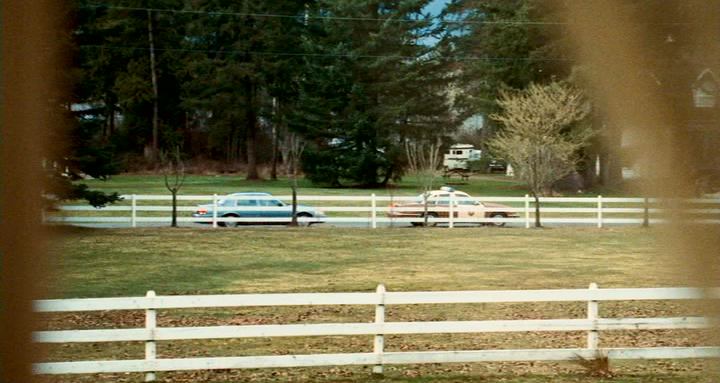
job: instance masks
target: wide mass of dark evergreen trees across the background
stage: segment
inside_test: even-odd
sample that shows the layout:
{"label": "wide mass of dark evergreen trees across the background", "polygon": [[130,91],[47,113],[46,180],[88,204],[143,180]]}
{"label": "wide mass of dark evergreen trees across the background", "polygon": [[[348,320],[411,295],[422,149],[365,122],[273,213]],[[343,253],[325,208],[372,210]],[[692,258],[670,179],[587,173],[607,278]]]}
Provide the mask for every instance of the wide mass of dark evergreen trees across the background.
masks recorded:
{"label": "wide mass of dark evergreen trees across the background", "polygon": [[293,133],[312,181],[382,185],[407,168],[407,139],[450,143],[501,90],[571,73],[562,8],[451,0],[433,16],[429,3],[75,0],[66,157],[108,175],[179,147],[189,167],[257,178]]}

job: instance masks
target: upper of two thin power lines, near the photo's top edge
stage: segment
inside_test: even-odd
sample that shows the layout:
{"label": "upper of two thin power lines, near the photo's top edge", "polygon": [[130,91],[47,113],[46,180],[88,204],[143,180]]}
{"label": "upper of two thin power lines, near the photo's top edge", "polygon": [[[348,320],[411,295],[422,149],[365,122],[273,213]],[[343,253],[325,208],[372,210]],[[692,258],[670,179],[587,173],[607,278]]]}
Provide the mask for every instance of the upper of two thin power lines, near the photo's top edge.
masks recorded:
{"label": "upper of two thin power lines, near the photo's top edge", "polygon": [[[108,4],[88,4],[81,5],[84,8],[106,8],[125,11],[142,11],[142,12],[163,12],[163,13],[180,13],[180,14],[200,14],[209,16],[237,16],[237,17],[257,17],[257,18],[285,18],[304,20],[305,18],[312,20],[338,20],[338,21],[383,21],[383,22],[400,22],[400,23],[427,23],[432,19],[441,19],[439,16],[431,16],[422,20],[412,19],[393,19],[380,17],[351,17],[351,16],[318,16],[318,15],[287,15],[276,13],[252,13],[252,12],[229,12],[229,11],[200,11],[193,9],[167,9],[167,8],[144,8],[144,7],[126,7]],[[441,19],[448,24],[495,24],[495,25],[567,25],[566,22],[557,21],[513,21],[513,20],[450,20]]]}

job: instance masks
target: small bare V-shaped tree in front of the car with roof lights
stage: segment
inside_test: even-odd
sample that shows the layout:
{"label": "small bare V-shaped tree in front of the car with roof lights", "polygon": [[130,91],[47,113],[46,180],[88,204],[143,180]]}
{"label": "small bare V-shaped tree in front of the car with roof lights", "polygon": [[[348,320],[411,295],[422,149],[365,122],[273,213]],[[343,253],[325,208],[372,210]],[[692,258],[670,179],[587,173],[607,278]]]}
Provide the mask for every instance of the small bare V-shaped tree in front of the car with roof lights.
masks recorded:
{"label": "small bare V-shaped tree in front of the car with roof lights", "polygon": [[408,160],[408,170],[414,174],[423,190],[423,225],[428,224],[428,196],[433,188],[433,182],[440,174],[440,147],[442,139],[436,137],[429,140],[405,140],[405,154]]}

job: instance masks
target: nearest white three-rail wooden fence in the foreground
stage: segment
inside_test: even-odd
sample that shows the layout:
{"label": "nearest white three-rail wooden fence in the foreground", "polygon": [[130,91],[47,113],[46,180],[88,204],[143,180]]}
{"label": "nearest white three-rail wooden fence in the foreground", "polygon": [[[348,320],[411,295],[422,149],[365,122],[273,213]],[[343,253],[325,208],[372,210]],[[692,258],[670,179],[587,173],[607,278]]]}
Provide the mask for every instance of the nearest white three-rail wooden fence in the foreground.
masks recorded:
{"label": "nearest white three-rail wooden fence in the foreground", "polygon": [[[146,373],[146,381],[155,379],[158,371],[280,368],[337,365],[372,365],[382,373],[383,365],[416,363],[468,363],[495,361],[562,361],[577,358],[593,359],[680,359],[719,358],[720,347],[651,347],[602,348],[600,331],[702,329],[717,325],[705,317],[671,318],[601,318],[601,301],[633,300],[698,300],[718,299],[720,288],[639,288],[573,290],[507,290],[507,291],[443,291],[388,292],[378,286],[375,293],[321,294],[243,294],[156,296],[145,297],[43,300],[35,302],[38,312],[78,312],[97,310],[145,310],[145,328],[40,331],[36,342],[145,342],[145,359],[111,361],[69,361],[38,363],[37,374],[89,373]],[[387,305],[500,303],[500,302],[587,302],[586,319],[492,320],[492,321],[428,321],[387,322]],[[371,323],[280,324],[215,327],[158,327],[158,310],[209,307],[251,306],[316,306],[316,305],[374,305],[375,318]],[[370,319],[370,318],[368,318]],[[423,352],[385,352],[384,336],[389,334],[484,333],[587,331],[587,346],[570,349],[517,350],[457,350]],[[205,357],[159,359],[157,341],[180,339],[226,339],[248,337],[342,336],[368,335],[374,337],[371,353],[336,353],[308,355],[268,355],[239,357]]]}

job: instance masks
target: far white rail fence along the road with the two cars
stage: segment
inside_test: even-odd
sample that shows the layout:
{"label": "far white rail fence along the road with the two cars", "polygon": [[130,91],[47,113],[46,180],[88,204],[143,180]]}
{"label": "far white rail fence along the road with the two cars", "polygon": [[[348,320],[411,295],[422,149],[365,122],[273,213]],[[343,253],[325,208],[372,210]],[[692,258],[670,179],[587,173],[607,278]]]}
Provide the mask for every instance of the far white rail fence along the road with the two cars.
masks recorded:
{"label": "far white rail fence along the road with the two cars", "polygon": [[[124,195],[124,203],[105,208],[96,209],[92,206],[61,206],[60,214],[47,217],[49,222],[62,222],[72,224],[115,224],[136,227],[139,224],[148,223],[170,223],[169,206],[171,197],[169,195]],[[253,210],[253,211],[279,211],[278,207],[253,207],[225,208],[218,205],[222,199],[279,199],[285,202],[291,200],[291,196],[253,196],[253,197],[228,197],[219,195],[181,195],[178,196],[178,222],[192,223],[203,222],[217,227],[223,223],[253,223],[258,218],[249,217],[223,217],[229,211]],[[451,198],[453,198],[451,196]],[[481,197],[475,198],[480,202],[498,202],[509,205],[509,208],[488,208],[488,212],[512,212],[517,218],[486,218],[486,217],[458,217],[457,214],[449,214],[447,218],[429,217],[430,223],[446,224],[449,228],[462,224],[488,224],[488,223],[509,223],[516,226],[529,228],[535,219],[534,200],[526,195],[524,197]],[[163,205],[147,205],[148,201],[158,201]],[[301,223],[325,222],[330,224],[354,224],[366,225],[377,228],[379,225],[409,225],[412,222],[420,222],[419,218],[391,218],[387,213],[391,210],[389,205],[417,201],[417,197],[411,196],[389,196],[389,195],[365,195],[365,196],[317,196],[300,195],[299,203],[311,202],[313,207],[327,213],[323,218],[300,218]],[[191,204],[188,205],[188,202]],[[321,202],[323,206],[317,206]],[[608,198],[597,197],[544,197],[540,198],[541,218],[543,223],[548,224],[574,224],[592,225],[604,227],[607,225],[644,225],[662,223],[665,212],[669,205],[667,201],[645,198]],[[194,218],[191,212],[198,209],[196,204],[208,204],[214,211],[212,217]],[[325,205],[327,204],[327,205]],[[720,223],[720,199],[694,199],[683,201],[686,212],[694,215],[694,219],[704,223]],[[677,204],[676,204],[677,205]],[[450,205],[453,206],[453,205]],[[392,208],[395,211],[402,211],[403,208]],[[450,207],[450,210],[453,208]],[[416,210],[416,209],[415,209]],[[430,208],[433,211],[433,208]],[[447,213],[447,208],[443,210]],[[162,213],[162,214],[158,214]],[[342,213],[351,213],[339,215]],[[289,218],[262,218],[263,222],[285,223]]]}

